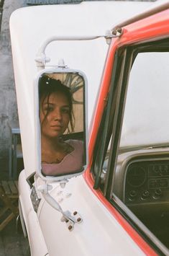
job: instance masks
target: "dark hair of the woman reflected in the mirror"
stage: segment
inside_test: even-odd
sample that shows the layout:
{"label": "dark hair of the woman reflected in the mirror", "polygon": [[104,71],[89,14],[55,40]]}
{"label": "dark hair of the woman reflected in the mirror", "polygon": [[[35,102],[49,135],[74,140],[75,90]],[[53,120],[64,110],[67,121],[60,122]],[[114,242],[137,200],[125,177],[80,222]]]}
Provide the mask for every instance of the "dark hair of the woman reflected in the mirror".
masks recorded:
{"label": "dark hair of the woman reflected in the mirror", "polygon": [[[47,105],[49,104],[49,98],[52,93],[60,92],[65,95],[68,100],[68,104],[70,107],[70,122],[68,125],[68,133],[74,131],[74,115],[73,115],[73,99],[72,94],[70,92],[70,88],[66,87],[65,84],[58,79],[50,78],[50,76],[42,75],[39,80],[39,99],[42,100],[42,105],[44,100],[47,98]],[[41,106],[42,107],[42,106]],[[47,118],[49,111],[45,115]],[[44,119],[45,120],[45,119]],[[70,126],[70,127],[69,127]]]}

